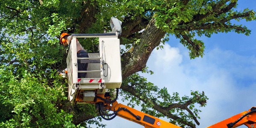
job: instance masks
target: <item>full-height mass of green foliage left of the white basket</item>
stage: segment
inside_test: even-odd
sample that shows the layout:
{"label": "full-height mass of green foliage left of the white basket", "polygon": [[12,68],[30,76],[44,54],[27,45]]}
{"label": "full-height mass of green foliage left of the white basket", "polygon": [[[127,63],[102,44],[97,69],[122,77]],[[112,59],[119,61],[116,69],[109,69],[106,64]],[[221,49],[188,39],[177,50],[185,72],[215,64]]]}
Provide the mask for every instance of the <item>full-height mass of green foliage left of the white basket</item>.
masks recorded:
{"label": "full-height mass of green foliage left of the white basket", "polygon": [[56,73],[66,67],[56,37],[73,26],[81,5],[39,1],[0,1],[0,127],[83,128],[62,109],[66,82]]}

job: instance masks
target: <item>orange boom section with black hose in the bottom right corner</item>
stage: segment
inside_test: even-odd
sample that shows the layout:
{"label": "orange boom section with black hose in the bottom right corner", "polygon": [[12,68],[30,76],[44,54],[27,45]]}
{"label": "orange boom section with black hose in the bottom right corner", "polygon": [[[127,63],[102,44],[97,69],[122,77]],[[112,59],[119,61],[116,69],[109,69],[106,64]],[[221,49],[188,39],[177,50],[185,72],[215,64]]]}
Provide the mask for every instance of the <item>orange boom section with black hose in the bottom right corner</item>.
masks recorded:
{"label": "orange boom section with black hose in the bottom right corner", "polygon": [[256,107],[244,111],[207,128],[236,128],[246,125],[248,128],[256,128]]}

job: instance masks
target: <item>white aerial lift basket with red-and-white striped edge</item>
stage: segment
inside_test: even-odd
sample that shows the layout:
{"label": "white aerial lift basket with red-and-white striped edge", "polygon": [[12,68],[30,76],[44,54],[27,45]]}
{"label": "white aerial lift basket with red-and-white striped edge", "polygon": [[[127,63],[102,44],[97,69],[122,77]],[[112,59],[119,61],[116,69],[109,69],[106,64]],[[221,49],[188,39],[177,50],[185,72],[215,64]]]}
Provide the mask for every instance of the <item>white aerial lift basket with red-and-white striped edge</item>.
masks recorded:
{"label": "white aerial lift basket with red-and-white striped edge", "polygon": [[[99,38],[99,52],[88,53],[89,58],[77,58],[76,38]],[[87,70],[78,71],[77,60],[88,63]],[[74,102],[79,92],[84,93],[84,101],[94,99],[94,93],[105,93],[107,89],[119,88],[122,84],[120,42],[118,33],[72,34],[67,55],[68,98]],[[86,78],[78,78],[78,73],[87,73]]]}

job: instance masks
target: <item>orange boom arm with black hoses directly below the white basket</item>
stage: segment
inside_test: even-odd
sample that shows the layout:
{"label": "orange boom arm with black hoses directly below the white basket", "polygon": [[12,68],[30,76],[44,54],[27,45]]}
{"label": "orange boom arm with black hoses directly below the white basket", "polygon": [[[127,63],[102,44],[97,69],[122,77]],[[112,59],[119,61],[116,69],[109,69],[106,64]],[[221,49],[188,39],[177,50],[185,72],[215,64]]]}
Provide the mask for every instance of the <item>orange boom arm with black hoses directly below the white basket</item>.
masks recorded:
{"label": "orange boom arm with black hoses directly below the white basket", "polygon": [[[96,97],[96,110],[99,111],[99,115],[103,119],[111,120],[115,116],[119,116],[132,122],[136,122],[137,124],[143,125],[145,128],[181,128],[162,119],[148,115],[141,111],[137,111],[134,108],[119,104],[116,100],[106,101],[108,97],[105,97],[103,95],[97,94]],[[106,113],[106,110],[113,111],[113,113],[108,114]],[[112,117],[105,118],[104,116]]]}

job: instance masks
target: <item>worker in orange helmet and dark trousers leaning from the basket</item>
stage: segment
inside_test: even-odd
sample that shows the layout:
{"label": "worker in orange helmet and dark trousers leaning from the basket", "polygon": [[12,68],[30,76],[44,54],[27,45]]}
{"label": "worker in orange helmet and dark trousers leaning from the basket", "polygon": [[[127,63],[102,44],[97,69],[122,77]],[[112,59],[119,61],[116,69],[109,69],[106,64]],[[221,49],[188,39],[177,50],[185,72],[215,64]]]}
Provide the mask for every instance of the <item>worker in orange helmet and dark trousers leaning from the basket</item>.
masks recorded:
{"label": "worker in orange helmet and dark trousers leaning from the basket", "polygon": [[[68,35],[67,33],[62,33],[60,36],[60,42],[65,47],[68,46],[71,42],[72,36]],[[78,58],[88,58],[88,53],[86,50],[81,46],[78,39],[76,39],[76,55]],[[77,70],[78,71],[86,71],[88,67],[88,63],[81,63],[81,60],[77,60]],[[78,78],[86,78],[86,73],[78,73]]]}

